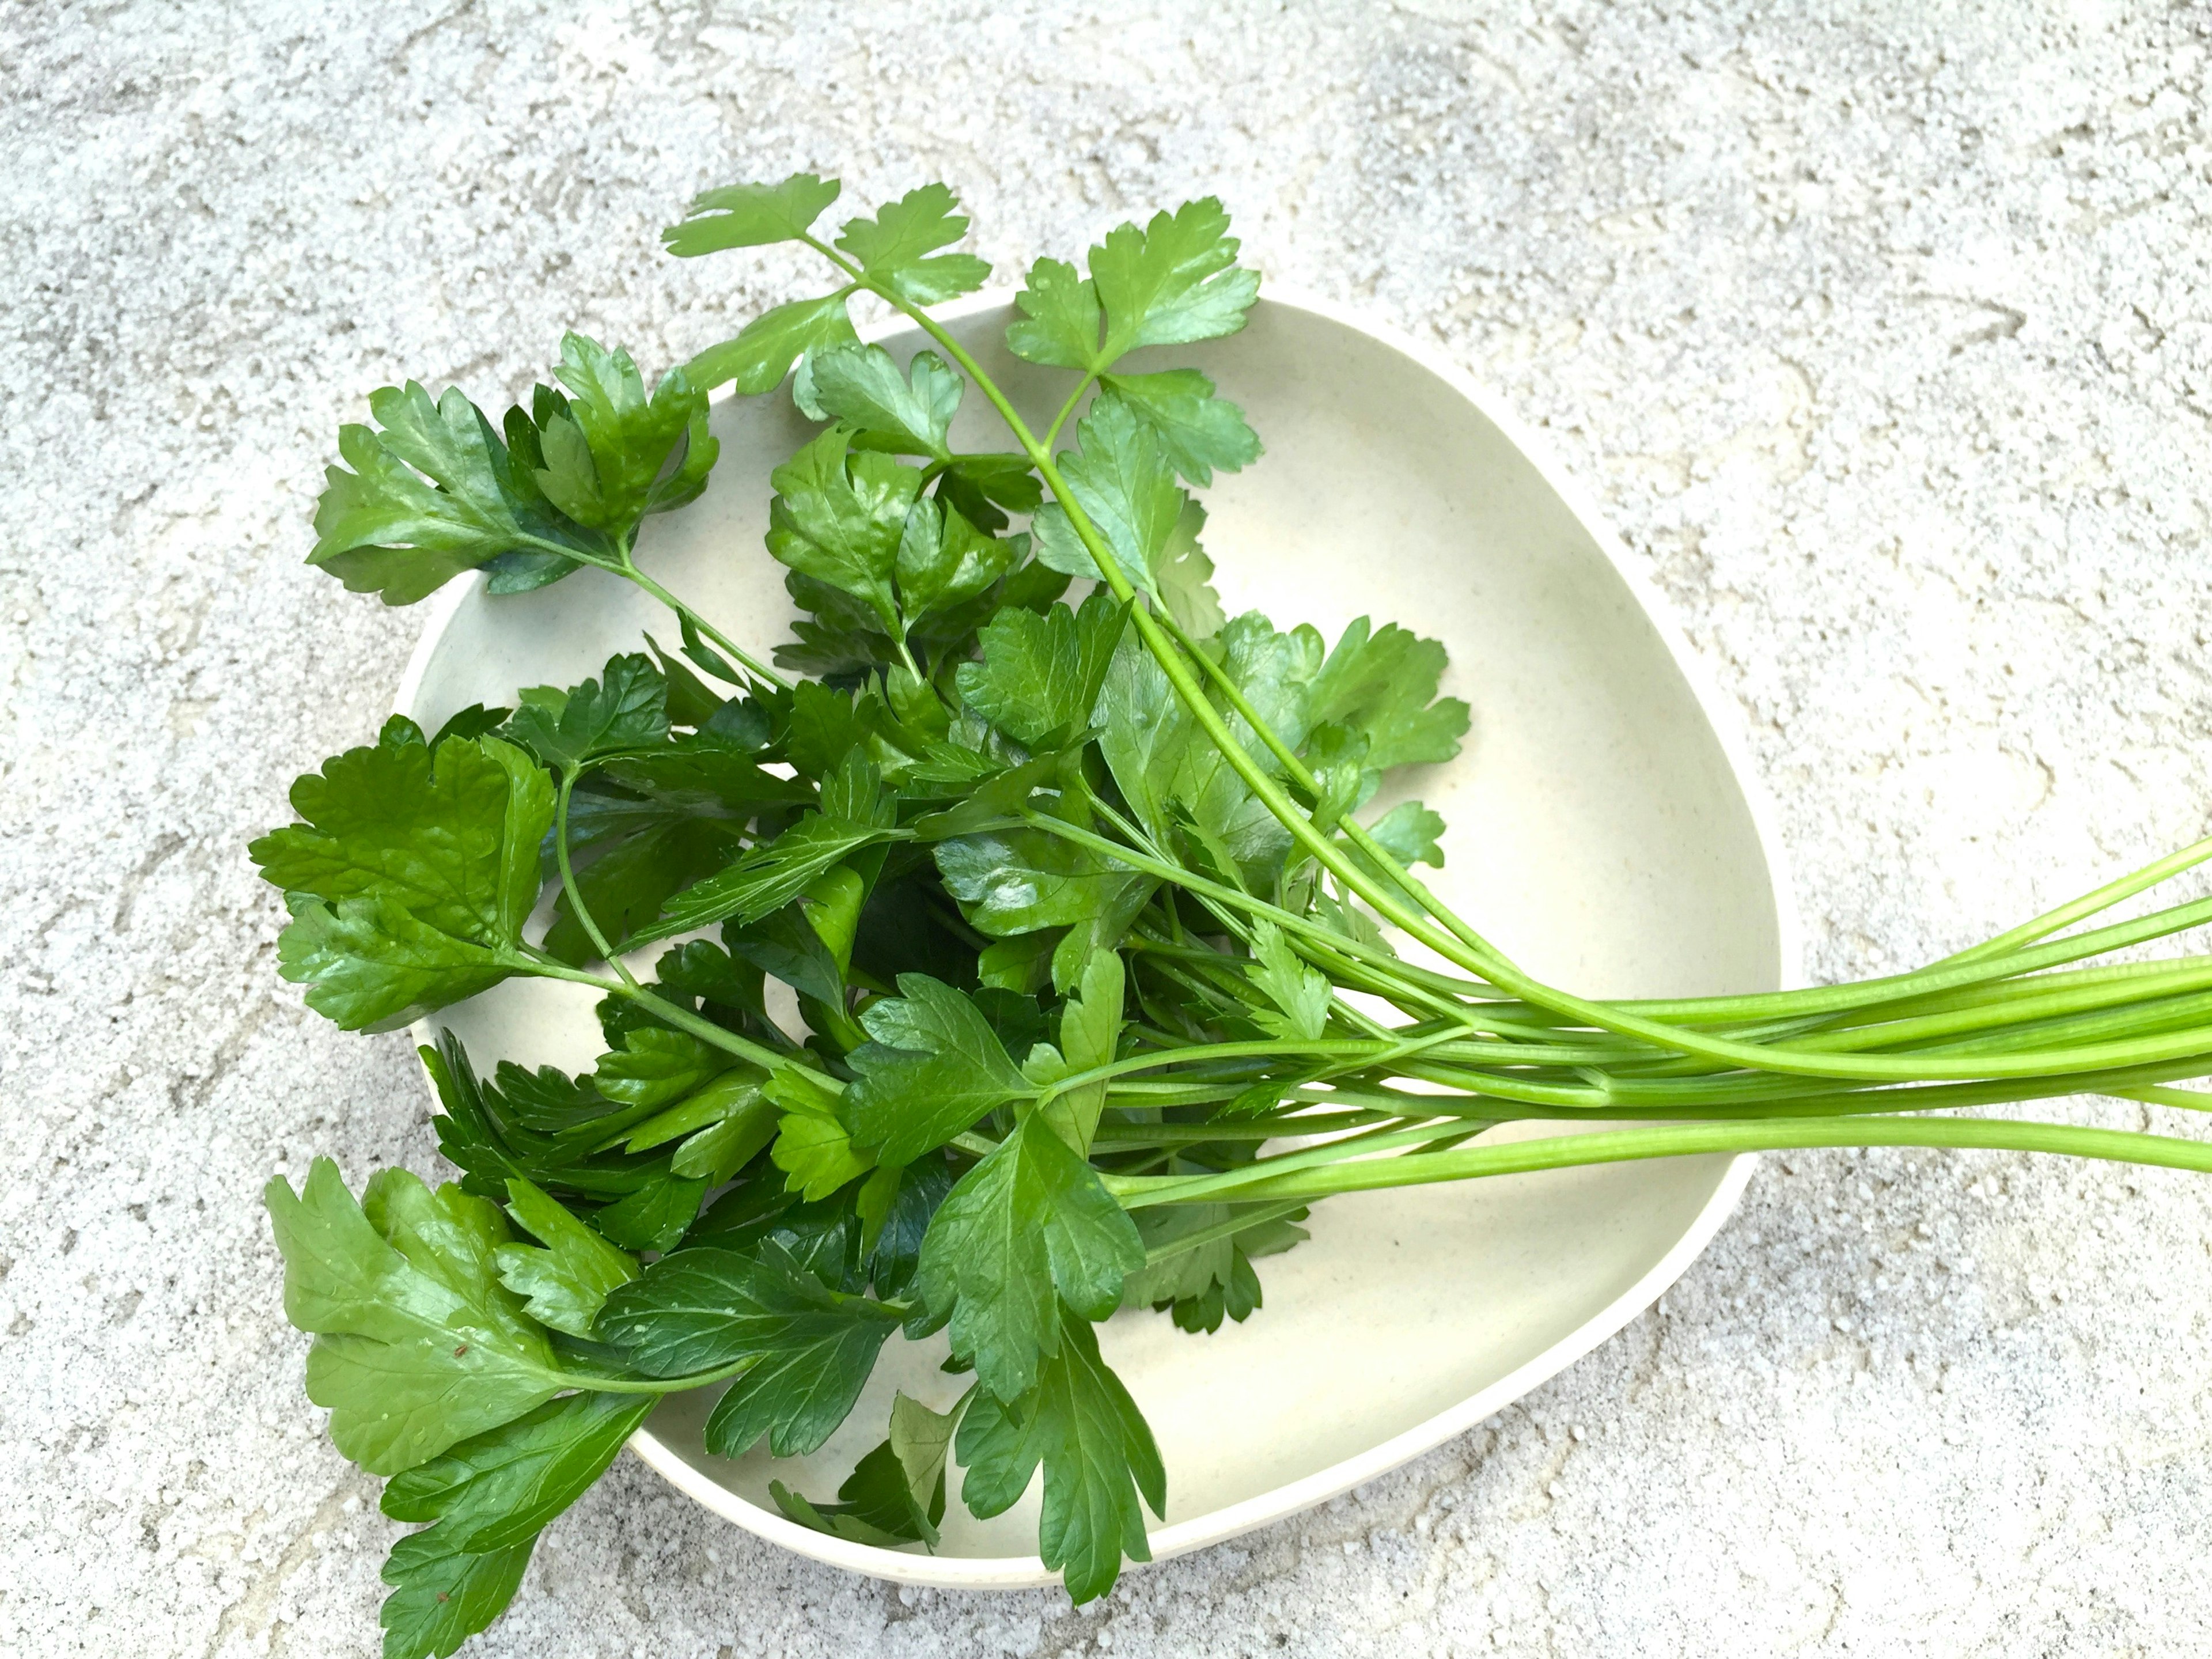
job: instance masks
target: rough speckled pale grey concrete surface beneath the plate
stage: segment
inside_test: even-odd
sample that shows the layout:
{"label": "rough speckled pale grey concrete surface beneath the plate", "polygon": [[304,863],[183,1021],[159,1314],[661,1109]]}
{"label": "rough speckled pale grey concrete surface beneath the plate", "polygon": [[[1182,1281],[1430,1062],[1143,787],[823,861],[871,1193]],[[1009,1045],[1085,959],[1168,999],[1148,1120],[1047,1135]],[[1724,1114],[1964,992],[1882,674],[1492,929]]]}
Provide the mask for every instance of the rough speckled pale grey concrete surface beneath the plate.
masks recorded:
{"label": "rough speckled pale grey concrete surface beneath the plate", "polygon": [[[1885,969],[2208,827],[2208,24],[9,4],[0,1650],[374,1650],[254,1192],[429,1168],[425,1113],[279,987],[241,849],[416,628],[301,568],[369,387],[719,338],[790,268],[650,232],[726,177],[945,175],[1002,263],[1219,190],[1548,427],[1743,708],[1814,969]],[[626,1462],[478,1652],[2205,1652],[2208,1243],[2188,1177],[1770,1161],[1597,1356],[1104,1606],[843,1577]]]}

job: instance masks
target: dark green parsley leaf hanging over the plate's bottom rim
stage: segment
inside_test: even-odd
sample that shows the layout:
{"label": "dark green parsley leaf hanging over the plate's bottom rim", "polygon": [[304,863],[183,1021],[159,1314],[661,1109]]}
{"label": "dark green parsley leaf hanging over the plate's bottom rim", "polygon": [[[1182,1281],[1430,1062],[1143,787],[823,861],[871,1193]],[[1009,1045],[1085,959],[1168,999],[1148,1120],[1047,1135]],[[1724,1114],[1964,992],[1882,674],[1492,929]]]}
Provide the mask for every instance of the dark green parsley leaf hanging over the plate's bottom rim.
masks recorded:
{"label": "dark green parsley leaf hanging over the plate's bottom rim", "polygon": [[1113,1588],[1121,1557],[1152,1559],[1137,1498],[1166,1517],[1168,1471],[1137,1402],[1099,1358],[1097,1334],[1073,1312],[1055,1314],[1062,1336],[1035,1389],[1011,1405],[980,1394],[962,1416],[960,1498],[982,1517],[1000,1515],[1020,1502],[1042,1462],[1037,1553],[1082,1604]]}

